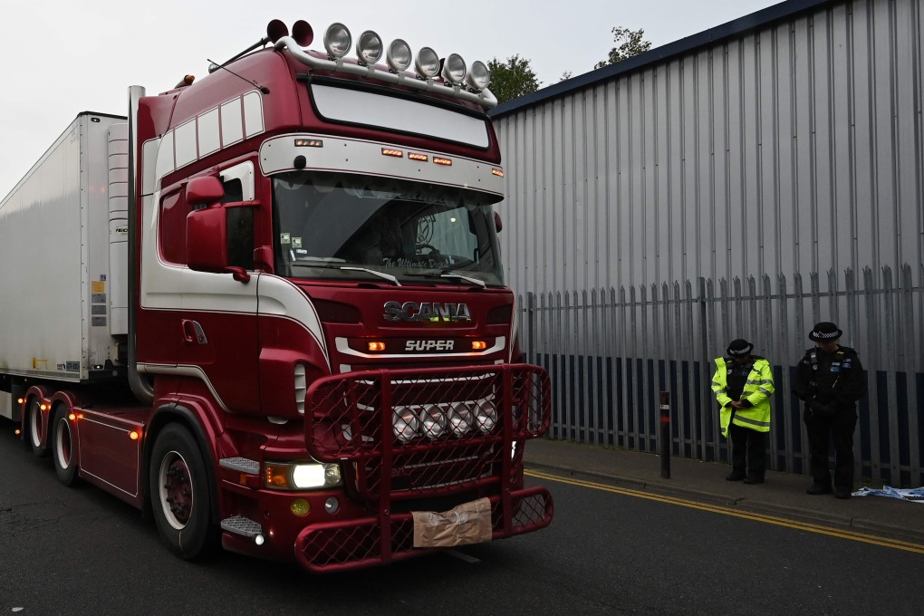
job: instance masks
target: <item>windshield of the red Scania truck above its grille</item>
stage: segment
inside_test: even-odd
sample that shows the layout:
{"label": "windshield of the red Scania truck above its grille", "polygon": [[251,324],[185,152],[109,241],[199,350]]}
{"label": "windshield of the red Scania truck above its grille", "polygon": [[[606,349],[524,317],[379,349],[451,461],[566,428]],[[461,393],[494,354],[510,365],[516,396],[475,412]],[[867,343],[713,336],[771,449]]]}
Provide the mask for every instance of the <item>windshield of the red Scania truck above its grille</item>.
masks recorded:
{"label": "windshield of the red Scania truck above its grille", "polygon": [[476,190],[371,175],[275,175],[276,272],[502,285],[497,200]]}

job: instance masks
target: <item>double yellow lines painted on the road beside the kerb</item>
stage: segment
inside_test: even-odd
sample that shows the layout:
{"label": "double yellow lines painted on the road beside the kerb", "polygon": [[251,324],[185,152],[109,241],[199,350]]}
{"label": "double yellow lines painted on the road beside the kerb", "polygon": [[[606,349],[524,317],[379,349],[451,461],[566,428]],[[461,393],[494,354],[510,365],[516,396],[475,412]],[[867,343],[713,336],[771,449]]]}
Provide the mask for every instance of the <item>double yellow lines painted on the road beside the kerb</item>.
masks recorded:
{"label": "double yellow lines painted on the road beside the kerb", "polygon": [[895,550],[906,550],[909,552],[924,554],[924,545],[920,545],[918,543],[910,543],[908,541],[901,541],[899,539],[875,537],[873,535],[857,533],[852,530],[842,530],[838,528],[832,528],[830,526],[797,522],[796,520],[790,520],[784,517],[776,517],[775,515],[741,512],[736,509],[723,507],[721,505],[711,505],[697,501],[687,501],[687,499],[679,499],[673,496],[663,496],[660,494],[651,494],[650,492],[643,492],[639,491],[638,489],[616,488],[614,486],[607,486],[606,484],[602,483],[585,481],[583,479],[575,479],[573,477],[560,477],[558,475],[543,473],[536,470],[528,470],[526,471],[526,475],[529,477],[536,477],[537,479],[547,479],[549,481],[559,481],[561,483],[567,483],[573,486],[581,486],[583,488],[602,489],[607,492],[614,492],[616,494],[623,494],[626,496],[634,496],[636,498],[647,499],[649,501],[666,502],[673,505],[679,505],[681,507],[688,507],[690,509],[699,509],[699,511],[704,512],[722,513],[723,515],[731,515],[733,517],[744,518],[746,520],[754,520],[756,522],[763,522],[765,524],[796,528],[796,530],[804,530],[808,531],[809,533],[818,533],[820,535],[829,535],[831,537],[840,537],[843,539],[850,539],[863,543],[871,543],[872,545],[882,546],[884,548],[894,548]]}

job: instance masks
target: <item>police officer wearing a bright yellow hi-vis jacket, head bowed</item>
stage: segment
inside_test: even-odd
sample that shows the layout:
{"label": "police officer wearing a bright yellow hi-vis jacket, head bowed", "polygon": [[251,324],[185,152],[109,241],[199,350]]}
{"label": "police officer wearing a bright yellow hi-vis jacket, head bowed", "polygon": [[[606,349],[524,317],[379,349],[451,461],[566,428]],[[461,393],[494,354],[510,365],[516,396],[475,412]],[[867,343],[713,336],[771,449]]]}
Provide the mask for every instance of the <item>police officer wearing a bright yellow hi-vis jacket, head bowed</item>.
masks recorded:
{"label": "police officer wearing a bright yellow hi-vis jacket, head bowed", "polygon": [[719,401],[722,436],[732,439],[729,481],[763,483],[767,469],[765,434],[770,431],[770,362],[751,355],[754,345],[738,338],[725,349],[728,358],[715,360],[712,391]]}

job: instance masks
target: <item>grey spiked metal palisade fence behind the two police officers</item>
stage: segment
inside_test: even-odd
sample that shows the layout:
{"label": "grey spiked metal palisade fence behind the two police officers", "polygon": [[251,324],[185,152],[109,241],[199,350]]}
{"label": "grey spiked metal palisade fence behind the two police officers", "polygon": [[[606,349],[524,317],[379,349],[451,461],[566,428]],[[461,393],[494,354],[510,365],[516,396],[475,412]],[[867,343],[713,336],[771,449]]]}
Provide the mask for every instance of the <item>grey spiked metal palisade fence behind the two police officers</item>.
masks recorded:
{"label": "grey spiked metal palisade fence behind the two police officers", "polygon": [[[924,281],[924,264],[918,265]],[[735,338],[766,356],[776,380],[768,467],[808,474],[802,409],[791,393],[808,330],[832,320],[857,349],[869,393],[858,405],[857,477],[919,486],[924,441],[924,287],[904,265],[731,282],[699,278],[520,297],[530,362],[549,371],[553,439],[658,451],[658,393],[670,392],[671,452],[727,461],[709,386],[713,359]]]}

